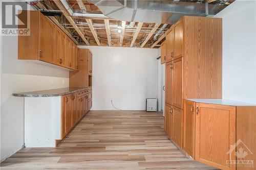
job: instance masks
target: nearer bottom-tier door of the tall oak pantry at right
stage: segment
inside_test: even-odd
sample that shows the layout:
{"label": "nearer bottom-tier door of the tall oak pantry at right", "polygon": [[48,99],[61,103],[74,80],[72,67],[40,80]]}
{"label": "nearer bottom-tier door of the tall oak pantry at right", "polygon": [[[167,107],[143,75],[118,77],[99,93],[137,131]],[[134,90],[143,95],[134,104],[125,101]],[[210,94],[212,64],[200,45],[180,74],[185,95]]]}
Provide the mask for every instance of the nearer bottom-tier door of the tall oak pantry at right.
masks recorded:
{"label": "nearer bottom-tier door of the tall oak pantry at right", "polygon": [[182,110],[172,107],[173,141],[182,149]]}

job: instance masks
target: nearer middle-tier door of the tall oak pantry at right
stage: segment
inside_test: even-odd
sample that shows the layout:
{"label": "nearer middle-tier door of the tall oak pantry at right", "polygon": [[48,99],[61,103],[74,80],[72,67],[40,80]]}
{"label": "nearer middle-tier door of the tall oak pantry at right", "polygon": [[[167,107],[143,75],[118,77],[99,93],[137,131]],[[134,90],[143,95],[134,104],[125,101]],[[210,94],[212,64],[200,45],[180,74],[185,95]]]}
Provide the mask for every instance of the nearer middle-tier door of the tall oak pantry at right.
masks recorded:
{"label": "nearer middle-tier door of the tall oak pantry at right", "polygon": [[173,98],[172,105],[183,108],[183,57],[173,61]]}

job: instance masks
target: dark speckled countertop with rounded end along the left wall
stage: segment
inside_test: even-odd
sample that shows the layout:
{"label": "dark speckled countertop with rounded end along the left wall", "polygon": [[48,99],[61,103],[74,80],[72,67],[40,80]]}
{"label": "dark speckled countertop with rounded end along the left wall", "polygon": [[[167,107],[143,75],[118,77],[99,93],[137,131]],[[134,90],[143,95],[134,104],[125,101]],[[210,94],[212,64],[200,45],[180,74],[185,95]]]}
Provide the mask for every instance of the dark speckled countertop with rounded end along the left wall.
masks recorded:
{"label": "dark speckled countertop with rounded end along the left wall", "polygon": [[67,87],[67,88],[56,88],[56,89],[50,89],[50,90],[13,93],[12,95],[16,97],[26,97],[26,98],[54,97],[54,96],[60,96],[60,95],[66,95],[66,94],[78,92],[81,90],[91,89],[91,88],[92,87],[86,87],[86,88]]}

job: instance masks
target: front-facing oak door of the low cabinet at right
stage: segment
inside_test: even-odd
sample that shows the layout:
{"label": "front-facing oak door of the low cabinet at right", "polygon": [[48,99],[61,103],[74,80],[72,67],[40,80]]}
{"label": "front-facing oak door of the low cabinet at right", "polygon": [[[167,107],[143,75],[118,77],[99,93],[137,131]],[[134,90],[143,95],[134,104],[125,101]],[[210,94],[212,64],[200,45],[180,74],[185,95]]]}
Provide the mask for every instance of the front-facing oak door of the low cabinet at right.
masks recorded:
{"label": "front-facing oak door of the low cabinet at right", "polygon": [[195,160],[220,169],[236,169],[227,161],[236,143],[236,107],[196,103]]}

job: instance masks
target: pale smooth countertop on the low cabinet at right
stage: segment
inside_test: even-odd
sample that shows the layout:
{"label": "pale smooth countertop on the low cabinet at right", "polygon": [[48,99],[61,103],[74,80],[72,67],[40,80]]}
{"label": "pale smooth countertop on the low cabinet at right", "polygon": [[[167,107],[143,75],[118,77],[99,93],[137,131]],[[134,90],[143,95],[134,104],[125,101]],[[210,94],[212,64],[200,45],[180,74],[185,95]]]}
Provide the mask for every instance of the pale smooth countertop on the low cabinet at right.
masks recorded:
{"label": "pale smooth countertop on the low cabinet at right", "polygon": [[228,105],[228,106],[256,106],[251,103],[237,102],[226,99],[187,99],[189,101],[197,103],[208,103],[208,104],[217,104],[217,105]]}

